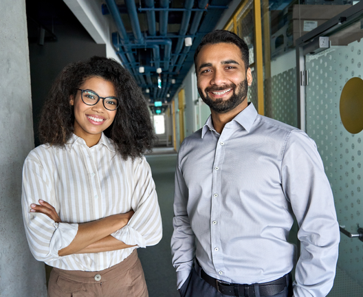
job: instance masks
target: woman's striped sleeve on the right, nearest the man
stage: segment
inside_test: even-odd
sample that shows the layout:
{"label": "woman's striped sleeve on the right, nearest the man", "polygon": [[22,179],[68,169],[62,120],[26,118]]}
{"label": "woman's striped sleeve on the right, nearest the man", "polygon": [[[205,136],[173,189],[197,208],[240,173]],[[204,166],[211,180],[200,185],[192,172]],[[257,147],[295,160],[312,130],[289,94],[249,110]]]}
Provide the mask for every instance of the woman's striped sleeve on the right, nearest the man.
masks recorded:
{"label": "woman's striped sleeve on the right, nearest the man", "polygon": [[135,179],[135,188],[131,207],[135,213],[127,225],[112,233],[111,236],[127,245],[146,248],[148,245],[157,244],[162,239],[162,216],[151,169],[145,157],[137,162],[133,179]]}

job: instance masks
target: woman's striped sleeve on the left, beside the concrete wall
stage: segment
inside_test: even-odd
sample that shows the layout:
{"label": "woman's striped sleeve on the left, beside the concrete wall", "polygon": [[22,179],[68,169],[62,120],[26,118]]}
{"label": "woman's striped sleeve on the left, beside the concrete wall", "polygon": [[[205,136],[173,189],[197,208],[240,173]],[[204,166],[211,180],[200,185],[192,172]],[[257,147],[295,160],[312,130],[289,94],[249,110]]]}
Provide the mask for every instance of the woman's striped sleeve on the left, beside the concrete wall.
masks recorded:
{"label": "woman's striped sleeve on the left, beside the concrete wall", "polygon": [[25,234],[30,251],[36,260],[54,261],[61,258],[58,256],[58,251],[73,241],[78,231],[78,224],[56,223],[46,214],[29,212],[30,204],[39,204],[39,199],[47,201],[59,212],[49,173],[38,159],[28,157],[23,166],[21,195]]}

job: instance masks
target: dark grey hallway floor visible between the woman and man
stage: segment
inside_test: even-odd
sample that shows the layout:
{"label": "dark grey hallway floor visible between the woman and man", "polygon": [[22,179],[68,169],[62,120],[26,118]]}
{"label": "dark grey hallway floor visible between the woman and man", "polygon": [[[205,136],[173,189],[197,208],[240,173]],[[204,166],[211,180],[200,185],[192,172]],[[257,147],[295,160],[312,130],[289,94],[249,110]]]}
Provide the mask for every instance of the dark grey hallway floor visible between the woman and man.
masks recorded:
{"label": "dark grey hallway floor visible between the woman and man", "polygon": [[[156,153],[156,152],[154,152]],[[164,153],[164,152],[163,152]],[[171,264],[170,238],[173,233],[174,173],[177,154],[146,155],[153,172],[162,212],[163,238],[155,246],[137,249],[144,268],[149,297],[177,297],[177,276]]]}

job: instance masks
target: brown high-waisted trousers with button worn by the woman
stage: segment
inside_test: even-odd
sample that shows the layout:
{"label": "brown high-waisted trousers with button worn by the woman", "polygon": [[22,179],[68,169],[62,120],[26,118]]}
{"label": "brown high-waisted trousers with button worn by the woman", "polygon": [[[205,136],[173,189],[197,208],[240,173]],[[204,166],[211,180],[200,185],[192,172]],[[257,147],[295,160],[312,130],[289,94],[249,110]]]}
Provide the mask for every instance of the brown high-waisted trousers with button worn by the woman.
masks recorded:
{"label": "brown high-waisted trousers with button worn by the woman", "polygon": [[134,250],[121,263],[100,272],[53,268],[48,297],[148,297],[144,271]]}

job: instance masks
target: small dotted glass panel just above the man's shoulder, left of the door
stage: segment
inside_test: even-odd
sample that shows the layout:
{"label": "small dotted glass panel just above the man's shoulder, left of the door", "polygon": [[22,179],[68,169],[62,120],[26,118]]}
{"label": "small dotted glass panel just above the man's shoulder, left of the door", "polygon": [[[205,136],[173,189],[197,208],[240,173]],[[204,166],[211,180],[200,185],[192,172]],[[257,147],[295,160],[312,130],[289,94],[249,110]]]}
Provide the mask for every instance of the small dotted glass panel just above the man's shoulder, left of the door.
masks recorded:
{"label": "small dotted glass panel just above the man's shoulder, left of the door", "polygon": [[[266,88],[265,88],[266,89]],[[272,76],[271,102],[267,115],[275,120],[298,126],[296,102],[296,67]]]}

